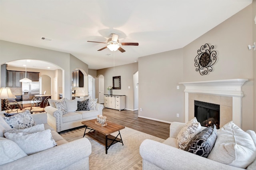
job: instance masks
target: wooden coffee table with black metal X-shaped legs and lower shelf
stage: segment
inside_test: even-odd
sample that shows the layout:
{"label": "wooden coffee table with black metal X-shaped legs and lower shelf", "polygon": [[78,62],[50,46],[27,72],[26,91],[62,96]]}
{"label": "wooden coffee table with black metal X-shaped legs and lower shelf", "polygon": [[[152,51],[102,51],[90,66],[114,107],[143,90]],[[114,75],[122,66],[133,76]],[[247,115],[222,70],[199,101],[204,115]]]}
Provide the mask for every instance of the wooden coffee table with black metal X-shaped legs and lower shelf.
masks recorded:
{"label": "wooden coffee table with black metal X-shaped legs and lower shelf", "polygon": [[[107,121],[108,125],[102,127],[95,124],[96,120],[97,119],[93,119],[93,120],[87,120],[82,122],[82,124],[86,126],[84,130],[84,136],[87,135],[90,138],[102,144],[103,146],[105,146],[106,154],[108,154],[108,149],[113,144],[117,142],[121,142],[122,145],[124,145],[121,134],[120,134],[120,130],[124,129],[125,128],[124,126]],[[87,129],[90,129],[90,131],[86,133]],[[117,131],[119,133],[116,137],[111,135],[112,133]],[[120,136],[120,138],[118,138],[118,136]]]}

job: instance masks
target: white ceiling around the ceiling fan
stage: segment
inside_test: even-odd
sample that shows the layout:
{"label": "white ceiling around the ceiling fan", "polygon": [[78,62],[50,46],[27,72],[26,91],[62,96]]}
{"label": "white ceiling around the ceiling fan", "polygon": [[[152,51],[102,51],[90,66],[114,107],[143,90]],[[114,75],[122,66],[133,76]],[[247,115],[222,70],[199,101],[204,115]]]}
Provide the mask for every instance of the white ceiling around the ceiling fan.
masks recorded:
{"label": "white ceiling around the ceiling fan", "polygon": [[108,48],[97,51],[106,45],[88,40],[107,42],[115,33],[119,42],[138,42],[139,46],[122,46],[124,53],[115,52],[116,66],[129,64],[141,56],[182,48],[251,3],[252,0],[0,0],[0,39],[67,52],[97,70],[112,67],[114,54]]}

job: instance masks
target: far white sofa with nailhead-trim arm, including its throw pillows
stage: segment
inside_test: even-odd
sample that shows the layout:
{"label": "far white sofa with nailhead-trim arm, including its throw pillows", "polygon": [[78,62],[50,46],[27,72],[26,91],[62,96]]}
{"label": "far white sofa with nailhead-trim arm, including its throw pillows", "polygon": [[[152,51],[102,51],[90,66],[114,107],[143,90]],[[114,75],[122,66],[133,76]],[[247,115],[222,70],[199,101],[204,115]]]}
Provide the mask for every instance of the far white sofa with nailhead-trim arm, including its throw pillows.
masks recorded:
{"label": "far white sofa with nailhead-trim arm, including its throw pillows", "polygon": [[[62,103],[64,106],[61,105],[58,108],[56,102]],[[49,99],[50,106],[45,108],[48,124],[56,132],[83,126],[81,122],[96,119],[97,115],[102,115],[104,106],[96,102],[97,99],[86,98],[75,98],[74,100],[68,100],[66,98],[61,100]],[[81,104],[80,109],[78,109],[78,103]]]}

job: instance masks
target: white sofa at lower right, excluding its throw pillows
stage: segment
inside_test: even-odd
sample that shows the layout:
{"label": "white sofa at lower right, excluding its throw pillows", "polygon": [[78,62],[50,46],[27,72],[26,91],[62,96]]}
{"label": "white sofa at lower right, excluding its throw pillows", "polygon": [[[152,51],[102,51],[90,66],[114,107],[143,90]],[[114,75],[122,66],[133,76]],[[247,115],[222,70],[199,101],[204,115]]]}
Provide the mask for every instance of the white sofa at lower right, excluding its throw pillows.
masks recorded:
{"label": "white sofa at lower right, excluding its throw pillows", "polygon": [[[142,142],[140,145],[140,155],[142,156],[143,160],[143,170],[206,170],[206,169],[215,169],[215,170],[243,170],[244,168],[238,168],[235,166],[231,166],[228,164],[220,163],[215,160],[211,160],[210,154],[213,152],[214,147],[216,145],[218,146],[224,146],[222,144],[216,144],[217,139],[220,136],[219,130],[217,130],[217,139],[215,142],[215,145],[212,148],[212,151],[210,152],[208,158],[198,156],[197,154],[187,152],[185,150],[182,150],[178,148],[177,144],[177,135],[181,131],[181,129],[184,127],[184,123],[180,122],[172,122],[170,124],[170,137],[167,138],[163,143],[156,142],[154,140],[146,139]],[[205,129],[202,127],[200,131]],[[252,163],[247,167],[247,170],[256,170],[256,150],[253,146],[256,145],[256,134],[252,130],[246,131],[251,137],[253,142],[250,143],[252,146],[248,145],[248,150],[251,150],[254,153],[251,153],[252,155],[250,158],[254,159]],[[246,133],[244,132],[244,133]],[[232,136],[232,135],[231,135]],[[237,139],[236,139],[237,140]],[[239,140],[244,140],[243,138],[240,138]],[[236,147],[240,147],[238,144],[232,145]],[[223,151],[223,149],[222,149]],[[224,153],[219,152],[219,155],[222,154],[224,156]],[[228,153],[229,156],[234,154],[234,152]],[[234,155],[233,155],[234,156]],[[246,156],[245,156],[246,157]],[[223,157],[220,157],[222,159]],[[223,161],[225,161],[225,157],[223,158]],[[235,161],[240,161],[240,158],[233,158],[234,160],[231,163],[234,163]],[[238,159],[238,160],[236,160]],[[243,162],[242,162],[243,163]],[[241,164],[241,162],[238,162],[238,164]]]}

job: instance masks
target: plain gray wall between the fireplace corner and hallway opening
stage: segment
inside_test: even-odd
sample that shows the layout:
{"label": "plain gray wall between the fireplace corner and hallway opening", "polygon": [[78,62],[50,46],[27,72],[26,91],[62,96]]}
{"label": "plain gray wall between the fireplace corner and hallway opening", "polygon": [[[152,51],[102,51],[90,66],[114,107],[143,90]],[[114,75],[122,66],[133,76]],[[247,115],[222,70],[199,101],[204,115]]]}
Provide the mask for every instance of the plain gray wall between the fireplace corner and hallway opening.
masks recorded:
{"label": "plain gray wall between the fireplace corner and hallway opening", "polygon": [[182,82],[182,49],[140,57],[138,62],[139,116],[164,122],[184,122],[184,88],[176,88]]}

